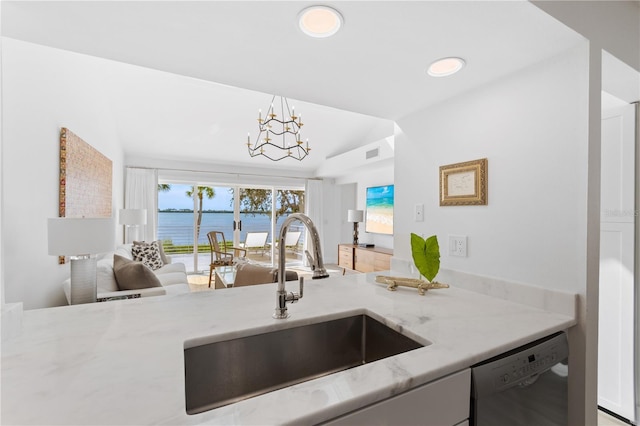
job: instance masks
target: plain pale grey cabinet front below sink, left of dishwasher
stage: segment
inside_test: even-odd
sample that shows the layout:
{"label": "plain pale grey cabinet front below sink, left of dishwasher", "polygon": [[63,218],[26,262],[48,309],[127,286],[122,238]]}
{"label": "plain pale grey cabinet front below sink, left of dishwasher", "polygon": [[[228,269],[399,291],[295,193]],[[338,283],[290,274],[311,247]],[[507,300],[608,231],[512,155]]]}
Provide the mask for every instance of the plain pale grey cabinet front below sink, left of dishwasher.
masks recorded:
{"label": "plain pale grey cabinet front below sink, left of dishwasher", "polygon": [[327,425],[466,425],[471,370],[463,370],[327,422]]}

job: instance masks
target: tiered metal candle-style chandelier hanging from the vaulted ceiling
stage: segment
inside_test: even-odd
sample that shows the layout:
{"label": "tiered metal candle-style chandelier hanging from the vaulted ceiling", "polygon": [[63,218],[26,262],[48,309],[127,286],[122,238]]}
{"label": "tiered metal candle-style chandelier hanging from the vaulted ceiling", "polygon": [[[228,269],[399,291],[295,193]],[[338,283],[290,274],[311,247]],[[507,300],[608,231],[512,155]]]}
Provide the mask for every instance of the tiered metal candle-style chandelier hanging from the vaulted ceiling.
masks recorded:
{"label": "tiered metal candle-style chandelier hanging from the vaulted ceiling", "polygon": [[271,161],[283,158],[295,158],[302,161],[309,155],[309,139],[303,145],[301,137],[302,114],[296,116],[295,107],[289,108],[287,98],[280,98],[280,109],[276,112],[276,96],[271,99],[271,106],[262,118],[262,110],[258,110],[258,129],[260,132],[254,143],[251,143],[251,133],[247,134],[247,148],[249,155],[257,157],[263,155]]}

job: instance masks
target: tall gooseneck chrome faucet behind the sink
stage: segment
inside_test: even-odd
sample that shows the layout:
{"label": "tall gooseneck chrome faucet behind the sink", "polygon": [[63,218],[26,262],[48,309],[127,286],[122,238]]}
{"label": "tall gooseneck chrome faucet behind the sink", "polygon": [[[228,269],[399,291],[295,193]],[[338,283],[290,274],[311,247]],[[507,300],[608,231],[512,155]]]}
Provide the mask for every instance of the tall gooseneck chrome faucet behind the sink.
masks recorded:
{"label": "tall gooseneck chrome faucet behind the sink", "polygon": [[299,220],[307,227],[307,229],[309,230],[309,235],[311,236],[311,250],[313,251],[313,257],[309,254],[308,251],[305,251],[305,254],[307,256],[307,259],[309,260],[309,263],[311,264],[311,269],[313,270],[312,279],[315,280],[320,278],[327,278],[329,276],[327,270],[324,268],[324,262],[322,261],[320,235],[318,234],[316,226],[307,215],[304,215],[302,213],[293,213],[289,215],[282,223],[282,228],[280,228],[280,236],[278,237],[278,290],[276,292],[276,311],[273,313],[273,317],[276,319],[284,319],[289,316],[289,314],[287,313],[287,302],[295,303],[298,301],[298,299],[302,299],[304,277],[300,277],[300,293],[287,293],[284,284],[286,279],[286,271],[284,269],[286,247],[284,245],[284,240],[285,236],[287,235],[289,225],[291,224],[291,222],[294,222],[296,220]]}

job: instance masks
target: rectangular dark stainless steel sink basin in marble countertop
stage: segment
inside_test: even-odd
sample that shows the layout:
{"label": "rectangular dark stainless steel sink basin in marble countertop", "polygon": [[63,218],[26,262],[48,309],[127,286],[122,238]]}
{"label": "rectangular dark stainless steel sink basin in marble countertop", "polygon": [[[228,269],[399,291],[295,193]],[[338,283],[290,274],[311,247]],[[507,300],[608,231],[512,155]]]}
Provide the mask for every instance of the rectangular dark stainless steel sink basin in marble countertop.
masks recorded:
{"label": "rectangular dark stainless steel sink basin in marble countertop", "polygon": [[368,315],[184,349],[188,414],[197,414],[424,345]]}

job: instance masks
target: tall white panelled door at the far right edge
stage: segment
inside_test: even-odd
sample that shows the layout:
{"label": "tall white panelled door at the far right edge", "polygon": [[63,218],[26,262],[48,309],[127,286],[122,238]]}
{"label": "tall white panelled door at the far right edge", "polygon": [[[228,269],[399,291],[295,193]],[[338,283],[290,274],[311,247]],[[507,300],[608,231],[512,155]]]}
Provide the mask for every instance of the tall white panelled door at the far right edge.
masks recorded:
{"label": "tall white panelled door at the far right edge", "polygon": [[635,422],[635,107],[603,111],[598,405]]}

